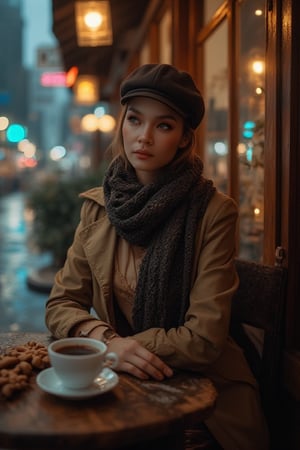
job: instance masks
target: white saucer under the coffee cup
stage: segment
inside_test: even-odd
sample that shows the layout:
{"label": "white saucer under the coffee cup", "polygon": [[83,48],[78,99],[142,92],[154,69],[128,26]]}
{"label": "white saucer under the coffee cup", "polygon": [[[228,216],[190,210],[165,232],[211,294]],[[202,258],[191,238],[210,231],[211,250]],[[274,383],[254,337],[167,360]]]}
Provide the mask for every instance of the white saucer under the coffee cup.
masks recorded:
{"label": "white saucer under the coffee cup", "polygon": [[36,377],[38,386],[49,394],[58,397],[80,399],[95,397],[113,389],[119,382],[118,375],[108,367],[104,368],[94,383],[85,389],[65,388],[58,379],[53,367],[43,370]]}

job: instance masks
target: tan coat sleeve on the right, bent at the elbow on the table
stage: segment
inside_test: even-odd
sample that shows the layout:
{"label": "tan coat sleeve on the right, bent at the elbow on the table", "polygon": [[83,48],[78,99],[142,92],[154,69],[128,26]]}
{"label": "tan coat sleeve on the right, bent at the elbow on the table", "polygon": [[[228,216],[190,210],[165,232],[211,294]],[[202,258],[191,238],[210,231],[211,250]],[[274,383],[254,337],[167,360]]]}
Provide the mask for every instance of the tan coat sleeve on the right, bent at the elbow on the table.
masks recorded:
{"label": "tan coat sleeve on the right, bent at the elbow on the table", "polygon": [[201,371],[221,355],[228,338],[231,299],[238,287],[235,242],[238,210],[216,193],[199,224],[190,305],[185,323],[165,331],[151,328],[134,336],[175,368]]}

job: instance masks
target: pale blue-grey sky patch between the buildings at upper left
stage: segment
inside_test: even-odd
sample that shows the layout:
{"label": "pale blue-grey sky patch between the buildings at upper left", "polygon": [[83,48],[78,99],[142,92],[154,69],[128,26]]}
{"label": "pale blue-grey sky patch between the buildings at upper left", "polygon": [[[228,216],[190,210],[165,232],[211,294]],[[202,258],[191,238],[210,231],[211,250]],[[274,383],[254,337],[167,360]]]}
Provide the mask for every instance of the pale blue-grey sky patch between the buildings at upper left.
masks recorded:
{"label": "pale blue-grey sky patch between the buildings at upper left", "polygon": [[36,49],[55,45],[52,33],[51,0],[22,0],[24,35],[23,57],[26,66],[36,62]]}

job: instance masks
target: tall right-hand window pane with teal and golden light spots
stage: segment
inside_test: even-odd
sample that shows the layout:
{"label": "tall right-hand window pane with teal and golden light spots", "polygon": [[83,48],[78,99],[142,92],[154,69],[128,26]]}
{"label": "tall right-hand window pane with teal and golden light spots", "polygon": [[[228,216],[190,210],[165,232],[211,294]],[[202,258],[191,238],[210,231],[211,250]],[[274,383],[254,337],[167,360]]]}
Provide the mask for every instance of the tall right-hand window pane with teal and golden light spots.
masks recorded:
{"label": "tall right-hand window pane with teal and golden light spots", "polygon": [[240,256],[261,261],[264,233],[265,2],[240,7]]}

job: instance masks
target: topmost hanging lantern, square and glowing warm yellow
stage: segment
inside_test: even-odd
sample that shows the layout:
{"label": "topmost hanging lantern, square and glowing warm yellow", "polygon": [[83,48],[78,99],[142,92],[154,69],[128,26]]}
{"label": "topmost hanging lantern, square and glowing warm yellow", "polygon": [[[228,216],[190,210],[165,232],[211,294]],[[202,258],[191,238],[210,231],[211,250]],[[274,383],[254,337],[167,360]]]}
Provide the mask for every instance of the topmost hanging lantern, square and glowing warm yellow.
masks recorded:
{"label": "topmost hanging lantern, square and glowing warm yellow", "polygon": [[80,47],[112,45],[109,1],[76,1],[75,17],[77,42]]}

